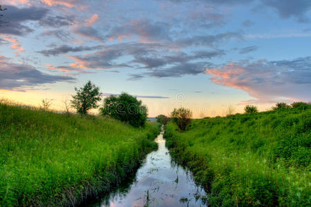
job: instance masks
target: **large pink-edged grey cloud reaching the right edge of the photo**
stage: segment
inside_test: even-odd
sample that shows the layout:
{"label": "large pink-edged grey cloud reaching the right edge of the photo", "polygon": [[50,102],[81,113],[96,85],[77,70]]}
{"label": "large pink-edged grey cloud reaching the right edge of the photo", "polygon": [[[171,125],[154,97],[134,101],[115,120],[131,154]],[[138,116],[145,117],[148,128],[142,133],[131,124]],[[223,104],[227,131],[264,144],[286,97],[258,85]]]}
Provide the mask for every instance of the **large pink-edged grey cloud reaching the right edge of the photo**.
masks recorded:
{"label": "large pink-edged grey cloud reaching the right edge of the photo", "polygon": [[211,81],[244,90],[257,103],[276,100],[310,101],[311,57],[294,60],[228,63],[222,68],[207,68]]}

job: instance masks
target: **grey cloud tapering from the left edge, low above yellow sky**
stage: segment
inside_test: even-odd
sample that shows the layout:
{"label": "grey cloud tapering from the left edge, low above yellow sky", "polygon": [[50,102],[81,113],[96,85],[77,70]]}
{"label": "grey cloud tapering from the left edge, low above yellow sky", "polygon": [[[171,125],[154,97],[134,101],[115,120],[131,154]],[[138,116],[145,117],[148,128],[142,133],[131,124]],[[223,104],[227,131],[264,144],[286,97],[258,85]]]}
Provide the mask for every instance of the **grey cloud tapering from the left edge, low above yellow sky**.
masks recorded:
{"label": "grey cloud tapering from the left edge, low above yellow sky", "polygon": [[6,90],[24,90],[44,83],[75,80],[68,76],[48,75],[32,66],[12,63],[3,56],[0,56],[0,77],[0,89]]}

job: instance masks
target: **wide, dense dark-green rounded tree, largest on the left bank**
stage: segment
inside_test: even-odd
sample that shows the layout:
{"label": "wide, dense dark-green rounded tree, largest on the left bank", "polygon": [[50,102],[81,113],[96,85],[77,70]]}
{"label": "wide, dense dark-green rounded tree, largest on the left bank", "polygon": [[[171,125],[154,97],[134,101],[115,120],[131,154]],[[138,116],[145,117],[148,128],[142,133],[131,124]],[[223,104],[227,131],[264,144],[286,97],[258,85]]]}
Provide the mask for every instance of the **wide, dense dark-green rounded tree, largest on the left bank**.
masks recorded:
{"label": "wide, dense dark-green rounded tree, largest on the left bank", "polygon": [[100,111],[104,116],[124,121],[134,127],[144,126],[147,121],[147,107],[142,105],[142,101],[125,92],[119,96],[106,97]]}

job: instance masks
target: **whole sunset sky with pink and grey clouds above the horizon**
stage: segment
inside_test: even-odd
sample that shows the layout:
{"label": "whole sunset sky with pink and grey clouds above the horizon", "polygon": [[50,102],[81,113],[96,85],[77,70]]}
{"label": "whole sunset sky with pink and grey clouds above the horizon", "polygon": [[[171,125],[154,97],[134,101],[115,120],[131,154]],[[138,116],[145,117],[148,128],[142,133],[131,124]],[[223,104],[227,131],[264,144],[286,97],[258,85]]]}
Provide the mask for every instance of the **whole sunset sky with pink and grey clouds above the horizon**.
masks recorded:
{"label": "whole sunset sky with pink and grey clouds above the horizon", "polygon": [[88,80],[149,117],[311,101],[310,0],[0,0],[0,98],[64,110]]}

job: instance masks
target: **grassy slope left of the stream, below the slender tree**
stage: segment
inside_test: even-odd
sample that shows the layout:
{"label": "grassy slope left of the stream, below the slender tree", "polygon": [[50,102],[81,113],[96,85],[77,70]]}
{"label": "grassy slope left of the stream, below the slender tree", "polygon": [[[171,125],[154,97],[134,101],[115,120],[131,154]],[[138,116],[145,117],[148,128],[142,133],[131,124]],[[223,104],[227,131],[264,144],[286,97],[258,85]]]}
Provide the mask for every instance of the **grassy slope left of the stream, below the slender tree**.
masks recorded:
{"label": "grassy slope left of the stream, below the slender tree", "polygon": [[0,206],[68,206],[104,193],[157,148],[159,131],[0,104]]}

